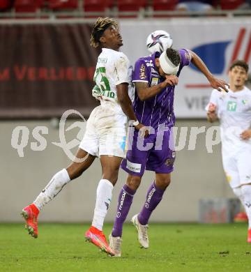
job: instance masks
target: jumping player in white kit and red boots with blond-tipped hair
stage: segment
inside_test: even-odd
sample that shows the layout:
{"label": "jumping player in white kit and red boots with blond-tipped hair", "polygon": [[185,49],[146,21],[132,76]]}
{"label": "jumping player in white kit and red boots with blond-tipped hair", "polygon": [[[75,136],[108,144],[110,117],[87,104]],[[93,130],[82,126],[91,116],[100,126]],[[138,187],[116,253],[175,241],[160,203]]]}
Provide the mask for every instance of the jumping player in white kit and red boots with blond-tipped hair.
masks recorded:
{"label": "jumping player in white kit and red boots with blond-tipped hair", "polygon": [[93,109],[86,124],[86,133],[79,144],[76,158],[69,167],[57,172],[33,204],[22,210],[26,228],[34,238],[38,237],[38,213],[50,202],[68,182],[80,176],[100,157],[102,179],[98,183],[93,222],[85,237],[109,255],[109,247],[102,226],[112,199],[112,189],[118,179],[119,166],[124,155],[126,123],[132,121],[136,129],[143,127],[136,119],[132,101],[128,96],[129,61],[119,52],[123,40],[116,21],[99,17],[91,33],[91,46],[102,47],[98,56],[93,96],[100,100],[100,106]]}

